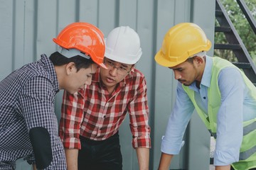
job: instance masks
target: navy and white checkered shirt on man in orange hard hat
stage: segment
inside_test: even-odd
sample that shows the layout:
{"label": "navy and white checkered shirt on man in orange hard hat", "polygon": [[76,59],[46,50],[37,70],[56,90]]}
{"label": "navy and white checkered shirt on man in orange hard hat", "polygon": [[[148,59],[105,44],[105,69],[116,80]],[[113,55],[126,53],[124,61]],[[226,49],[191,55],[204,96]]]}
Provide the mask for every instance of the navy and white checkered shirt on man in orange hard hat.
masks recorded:
{"label": "navy and white checkered shirt on man in orange hard hat", "polygon": [[33,155],[28,132],[36,127],[50,134],[53,161],[47,169],[66,169],[54,113],[58,91],[55,69],[46,55],[0,82],[0,169],[15,169],[16,159]]}

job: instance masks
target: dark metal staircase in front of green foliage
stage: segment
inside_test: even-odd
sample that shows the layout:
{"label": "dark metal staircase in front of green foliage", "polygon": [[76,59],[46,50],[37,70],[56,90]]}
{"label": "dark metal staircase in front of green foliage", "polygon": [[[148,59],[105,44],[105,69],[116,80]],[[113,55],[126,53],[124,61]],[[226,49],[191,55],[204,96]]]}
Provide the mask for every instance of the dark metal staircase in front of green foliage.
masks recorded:
{"label": "dark metal staircase in front of green foliage", "polygon": [[[256,34],[256,23],[255,19],[248,10],[245,1],[237,0],[242,12],[247,18],[247,21],[250,23],[252,30]],[[228,13],[226,13],[225,8],[221,4],[220,0],[216,0],[215,4],[215,18],[217,19],[220,26],[215,26],[215,33],[222,32],[225,35],[225,38],[228,44],[215,44],[214,49],[219,50],[233,50],[235,57],[238,62],[233,62],[237,67],[245,72],[246,76],[252,81],[256,86],[256,67],[252,62],[252,58],[248,53],[245,45],[243,44],[240,36],[238,35],[237,30],[233,26]]]}

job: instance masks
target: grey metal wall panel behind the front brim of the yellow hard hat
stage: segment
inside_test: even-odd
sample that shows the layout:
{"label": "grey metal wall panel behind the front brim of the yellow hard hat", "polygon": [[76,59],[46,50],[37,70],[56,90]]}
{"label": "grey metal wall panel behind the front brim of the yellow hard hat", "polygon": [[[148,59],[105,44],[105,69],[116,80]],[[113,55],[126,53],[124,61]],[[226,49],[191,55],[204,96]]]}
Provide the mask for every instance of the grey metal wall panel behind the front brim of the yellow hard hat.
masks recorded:
{"label": "grey metal wall panel behind the front brim of the yellow hard hat", "polygon": [[[161,42],[164,35],[171,26],[176,23],[190,21],[191,1],[157,1],[156,18],[156,50],[161,48]],[[157,52],[157,51],[156,51]],[[171,108],[176,96],[176,81],[174,81],[173,72],[166,67],[156,64],[155,71],[155,89],[154,89],[154,169],[157,169],[161,155],[161,137],[164,135]],[[186,145],[185,145],[186,147]],[[171,162],[171,169],[185,169],[184,149],[179,155],[176,155]]]}

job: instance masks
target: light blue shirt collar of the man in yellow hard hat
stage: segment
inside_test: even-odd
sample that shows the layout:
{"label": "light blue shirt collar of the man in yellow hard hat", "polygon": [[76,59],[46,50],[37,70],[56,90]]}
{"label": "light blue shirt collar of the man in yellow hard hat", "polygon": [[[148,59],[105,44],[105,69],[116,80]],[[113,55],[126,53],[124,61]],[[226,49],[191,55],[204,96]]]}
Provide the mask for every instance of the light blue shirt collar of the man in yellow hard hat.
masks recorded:
{"label": "light blue shirt collar of the man in yellow hard hat", "polygon": [[[203,71],[203,77],[202,77],[200,86],[210,87],[212,68],[213,68],[213,58],[206,55],[206,67]],[[192,89],[193,91],[198,92],[198,88],[196,87],[196,81],[194,81],[193,84],[189,86],[189,88]]]}

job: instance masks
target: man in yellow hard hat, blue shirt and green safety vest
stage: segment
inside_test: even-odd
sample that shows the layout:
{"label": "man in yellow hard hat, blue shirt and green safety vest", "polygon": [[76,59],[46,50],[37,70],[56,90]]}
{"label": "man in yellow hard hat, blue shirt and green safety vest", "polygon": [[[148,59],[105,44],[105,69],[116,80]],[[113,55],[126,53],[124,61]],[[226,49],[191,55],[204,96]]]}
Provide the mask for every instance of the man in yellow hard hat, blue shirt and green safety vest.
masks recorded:
{"label": "man in yellow hard hat, blue shirt and green safety vest", "polygon": [[159,170],[169,169],[171,158],[180,152],[194,109],[216,140],[216,170],[256,169],[256,87],[235,65],[207,56],[210,47],[199,26],[179,23],[168,30],[155,56],[178,80]]}

